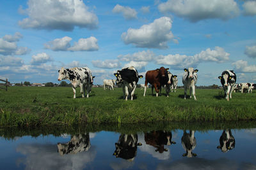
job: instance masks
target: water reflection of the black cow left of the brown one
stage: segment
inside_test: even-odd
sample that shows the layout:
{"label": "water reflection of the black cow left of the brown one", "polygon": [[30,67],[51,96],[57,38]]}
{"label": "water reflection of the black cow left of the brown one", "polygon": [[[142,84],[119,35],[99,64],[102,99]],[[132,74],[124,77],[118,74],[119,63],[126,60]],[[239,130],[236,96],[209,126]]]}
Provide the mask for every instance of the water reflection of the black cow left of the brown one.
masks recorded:
{"label": "water reflection of the black cow left of the brown one", "polygon": [[113,155],[116,158],[132,161],[136,157],[137,146],[141,145],[141,143],[138,143],[137,134],[120,134],[118,143],[115,143],[116,150]]}

